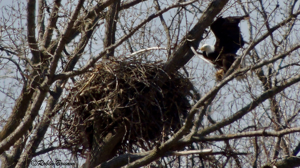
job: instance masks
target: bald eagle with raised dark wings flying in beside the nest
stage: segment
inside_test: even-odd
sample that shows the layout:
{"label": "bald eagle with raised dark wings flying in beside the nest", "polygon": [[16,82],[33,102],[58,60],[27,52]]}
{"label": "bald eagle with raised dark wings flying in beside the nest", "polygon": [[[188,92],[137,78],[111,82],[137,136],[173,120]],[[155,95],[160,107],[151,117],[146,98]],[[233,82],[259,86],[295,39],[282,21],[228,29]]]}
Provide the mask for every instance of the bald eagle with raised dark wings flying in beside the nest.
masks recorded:
{"label": "bald eagle with raised dark wings flying in beside the nest", "polygon": [[213,46],[204,44],[200,49],[203,51],[203,57],[220,69],[216,74],[219,80],[222,79],[223,74],[235,61],[237,50],[244,46],[244,40],[238,24],[241,20],[248,17],[249,15],[225,18],[221,16],[212,22],[210,26],[216,37],[216,43]]}

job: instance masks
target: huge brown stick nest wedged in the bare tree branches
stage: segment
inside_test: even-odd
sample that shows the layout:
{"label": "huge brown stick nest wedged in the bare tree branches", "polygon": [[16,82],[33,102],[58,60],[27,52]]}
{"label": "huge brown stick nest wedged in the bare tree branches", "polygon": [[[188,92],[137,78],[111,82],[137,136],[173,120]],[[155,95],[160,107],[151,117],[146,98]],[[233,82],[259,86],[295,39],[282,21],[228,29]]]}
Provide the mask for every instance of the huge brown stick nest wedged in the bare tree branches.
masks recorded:
{"label": "huge brown stick nest wedged in the bare tree branches", "polygon": [[69,112],[60,129],[64,144],[86,150],[120,125],[126,129],[126,146],[168,138],[187,116],[193,85],[179,72],[170,75],[161,67],[106,60],[86,73],[66,98]]}

